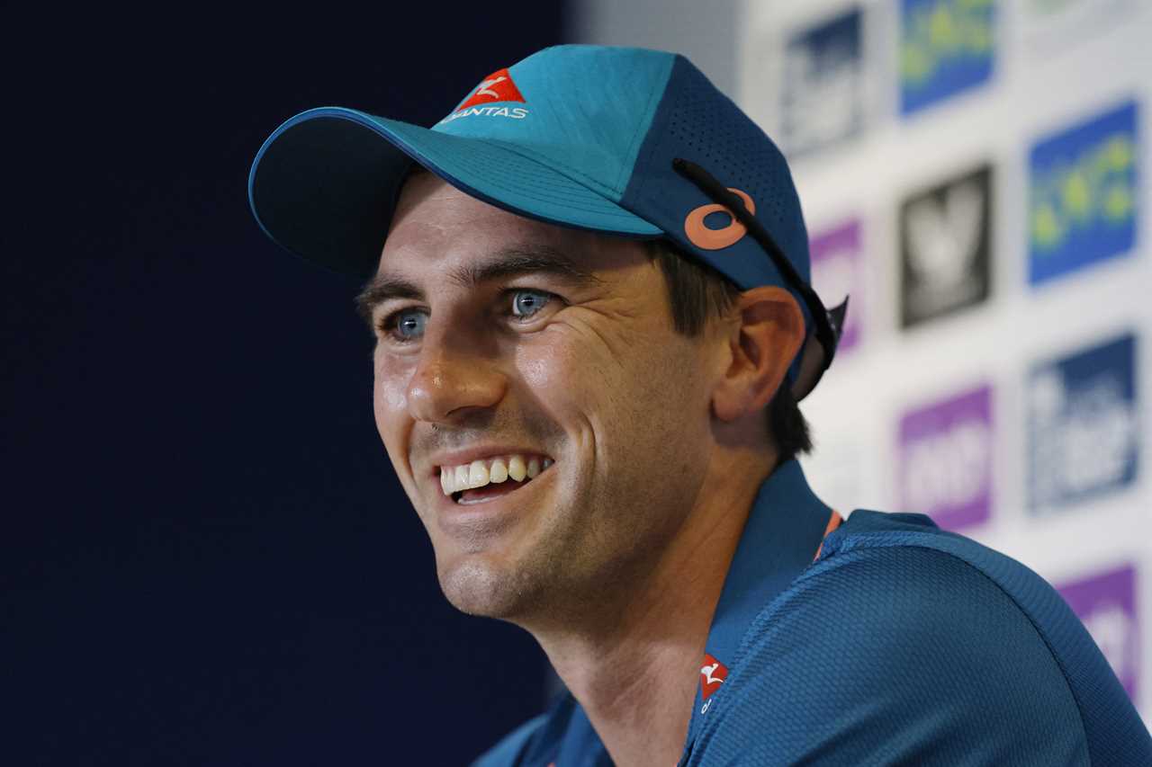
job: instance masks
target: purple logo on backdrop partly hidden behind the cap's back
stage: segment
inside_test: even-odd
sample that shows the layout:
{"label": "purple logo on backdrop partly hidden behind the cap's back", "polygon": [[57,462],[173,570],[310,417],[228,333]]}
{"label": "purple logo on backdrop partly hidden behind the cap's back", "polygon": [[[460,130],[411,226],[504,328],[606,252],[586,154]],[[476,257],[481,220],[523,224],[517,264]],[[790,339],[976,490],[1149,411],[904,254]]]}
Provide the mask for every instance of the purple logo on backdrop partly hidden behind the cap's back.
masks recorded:
{"label": "purple logo on backdrop partly hidden behind the cap's back", "polygon": [[812,286],[825,306],[835,306],[851,295],[844,333],[836,352],[846,351],[859,341],[859,317],[863,307],[863,265],[861,263],[861,223],[851,219],[825,229],[809,243],[812,259]]}

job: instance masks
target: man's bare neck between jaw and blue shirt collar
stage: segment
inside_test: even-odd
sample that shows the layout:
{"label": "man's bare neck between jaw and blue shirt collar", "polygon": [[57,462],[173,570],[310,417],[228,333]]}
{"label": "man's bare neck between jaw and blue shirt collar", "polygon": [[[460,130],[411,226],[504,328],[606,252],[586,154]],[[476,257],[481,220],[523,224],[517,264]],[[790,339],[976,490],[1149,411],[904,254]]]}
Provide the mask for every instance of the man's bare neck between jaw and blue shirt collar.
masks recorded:
{"label": "man's bare neck between jaw and blue shirt collar", "polygon": [[629,588],[564,625],[525,626],[616,765],[680,759],[712,615],[767,473],[763,463],[710,469],[684,526]]}

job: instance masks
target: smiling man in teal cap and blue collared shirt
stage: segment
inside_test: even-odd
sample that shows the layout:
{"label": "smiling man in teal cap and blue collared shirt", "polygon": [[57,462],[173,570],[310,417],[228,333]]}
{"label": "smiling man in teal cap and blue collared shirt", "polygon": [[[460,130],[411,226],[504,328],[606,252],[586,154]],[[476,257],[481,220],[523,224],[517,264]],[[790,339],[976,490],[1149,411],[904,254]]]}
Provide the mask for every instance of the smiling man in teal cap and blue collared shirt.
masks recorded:
{"label": "smiling man in teal cap and blue collared shirt", "polygon": [[432,129],[312,109],[249,193],[367,279],[440,585],[570,691],[478,764],[1152,764],[1038,576],[808,488],[796,402],[844,307],[808,284],[782,155],[683,58],[548,48]]}

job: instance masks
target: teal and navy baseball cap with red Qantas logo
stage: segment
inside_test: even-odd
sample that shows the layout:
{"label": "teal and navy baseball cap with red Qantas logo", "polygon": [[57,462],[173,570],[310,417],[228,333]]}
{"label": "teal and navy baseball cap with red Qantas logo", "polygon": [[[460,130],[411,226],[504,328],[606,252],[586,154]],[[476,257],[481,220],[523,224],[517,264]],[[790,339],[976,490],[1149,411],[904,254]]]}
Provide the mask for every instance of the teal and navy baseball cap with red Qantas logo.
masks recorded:
{"label": "teal and navy baseball cap with red Qantas logo", "polygon": [[828,311],[810,286],[785,157],[682,55],[545,48],[485,77],[431,128],[308,109],[260,146],[249,204],[285,249],[369,279],[412,164],[518,215],[665,238],[743,290],[790,290],[806,327],[788,374],[797,400],[832,363],[847,302]]}

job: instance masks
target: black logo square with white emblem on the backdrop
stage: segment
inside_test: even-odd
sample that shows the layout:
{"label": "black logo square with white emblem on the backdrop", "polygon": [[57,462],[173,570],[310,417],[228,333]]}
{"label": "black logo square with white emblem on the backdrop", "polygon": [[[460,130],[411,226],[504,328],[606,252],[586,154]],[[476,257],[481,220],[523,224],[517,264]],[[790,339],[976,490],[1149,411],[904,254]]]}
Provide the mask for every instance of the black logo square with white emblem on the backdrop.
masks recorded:
{"label": "black logo square with white emblem on the backdrop", "polygon": [[991,166],[904,200],[900,207],[901,327],[988,297],[991,219]]}

